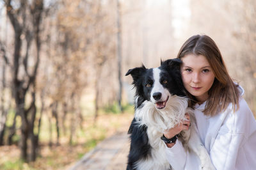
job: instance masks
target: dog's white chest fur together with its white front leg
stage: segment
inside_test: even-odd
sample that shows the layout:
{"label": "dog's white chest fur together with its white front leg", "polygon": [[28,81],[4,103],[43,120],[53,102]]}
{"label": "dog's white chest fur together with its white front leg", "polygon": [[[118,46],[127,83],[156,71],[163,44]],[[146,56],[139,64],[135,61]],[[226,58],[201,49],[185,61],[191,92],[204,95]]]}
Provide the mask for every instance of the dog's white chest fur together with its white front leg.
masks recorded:
{"label": "dog's white chest fur together with its white front leg", "polygon": [[[149,101],[143,102],[142,107],[136,109],[135,118],[139,125],[147,125],[148,143],[152,147],[150,158],[139,160],[137,169],[170,169],[166,159],[165,144],[161,141],[161,135],[165,130],[173,128],[177,123],[182,122],[185,113],[193,114],[188,109],[188,100],[184,97],[171,96],[164,109],[156,109]],[[192,115],[191,115],[192,116]],[[195,130],[195,121],[191,122],[191,128],[182,132],[182,139],[188,144],[188,148],[196,153],[200,158],[199,169],[212,170],[211,159]]]}

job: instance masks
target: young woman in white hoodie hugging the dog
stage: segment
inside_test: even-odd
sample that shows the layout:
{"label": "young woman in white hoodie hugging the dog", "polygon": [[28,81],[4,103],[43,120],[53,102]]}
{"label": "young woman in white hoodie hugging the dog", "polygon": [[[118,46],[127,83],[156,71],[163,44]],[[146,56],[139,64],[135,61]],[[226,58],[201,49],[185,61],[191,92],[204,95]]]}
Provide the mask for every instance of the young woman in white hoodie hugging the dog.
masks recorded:
{"label": "young woman in white hoodie hugging the dog", "polygon": [[[177,58],[184,87],[193,99],[198,134],[216,169],[256,169],[256,123],[241,97],[243,88],[228,75],[220,50],[206,35],[182,45]],[[164,133],[168,139],[188,130],[184,121]],[[179,140],[166,144],[173,169],[199,169],[200,160],[184,150]]]}

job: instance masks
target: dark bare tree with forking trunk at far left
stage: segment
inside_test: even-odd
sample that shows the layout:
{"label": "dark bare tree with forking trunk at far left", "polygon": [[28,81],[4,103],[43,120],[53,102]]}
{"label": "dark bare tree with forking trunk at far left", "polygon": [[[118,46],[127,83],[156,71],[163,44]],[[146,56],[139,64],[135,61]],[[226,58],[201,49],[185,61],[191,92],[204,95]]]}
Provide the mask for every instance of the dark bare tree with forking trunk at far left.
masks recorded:
{"label": "dark bare tree with forking trunk at far left", "polygon": [[[44,10],[43,0],[34,0],[31,3],[22,0],[6,0],[6,13],[10,19],[14,31],[14,54],[13,54],[13,98],[16,104],[16,114],[21,117],[21,139],[20,139],[20,156],[28,161],[28,138],[31,139],[31,149],[35,150],[35,134],[33,132],[35,122],[35,80],[40,58],[40,23],[42,12]],[[17,4],[13,8],[13,4]],[[30,19],[30,20],[29,20]],[[30,21],[30,22],[29,22]],[[26,54],[22,57],[22,37],[26,38]],[[36,58],[32,70],[28,68],[29,50],[32,40],[35,40]],[[21,66],[22,65],[22,66]],[[20,77],[22,67],[24,75]],[[26,95],[31,91],[32,101],[28,109],[25,108]],[[35,153],[31,151],[30,160],[35,160]]]}

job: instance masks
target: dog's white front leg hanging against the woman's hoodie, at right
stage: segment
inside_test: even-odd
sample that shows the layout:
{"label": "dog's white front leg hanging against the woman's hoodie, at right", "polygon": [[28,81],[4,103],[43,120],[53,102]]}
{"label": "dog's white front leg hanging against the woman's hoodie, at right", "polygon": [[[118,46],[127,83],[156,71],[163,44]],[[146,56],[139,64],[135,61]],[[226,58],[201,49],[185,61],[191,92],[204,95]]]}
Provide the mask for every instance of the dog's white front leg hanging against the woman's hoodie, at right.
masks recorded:
{"label": "dog's white front leg hanging against the woman's hoodie, at right", "polygon": [[196,125],[193,123],[190,127],[191,134],[188,141],[188,147],[198,155],[200,159],[200,169],[213,170],[215,167],[212,165],[211,158],[204,145],[200,141],[198,132],[196,131]]}

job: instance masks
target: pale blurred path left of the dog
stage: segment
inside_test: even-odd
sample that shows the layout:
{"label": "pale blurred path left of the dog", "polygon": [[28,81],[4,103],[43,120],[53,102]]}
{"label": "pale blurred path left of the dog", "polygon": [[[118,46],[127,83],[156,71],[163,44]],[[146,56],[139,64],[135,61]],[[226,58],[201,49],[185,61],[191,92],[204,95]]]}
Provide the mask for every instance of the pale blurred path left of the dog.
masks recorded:
{"label": "pale blurred path left of the dog", "polygon": [[71,170],[111,170],[126,169],[129,153],[127,133],[118,133],[99,143],[92,151],[86,153]]}

